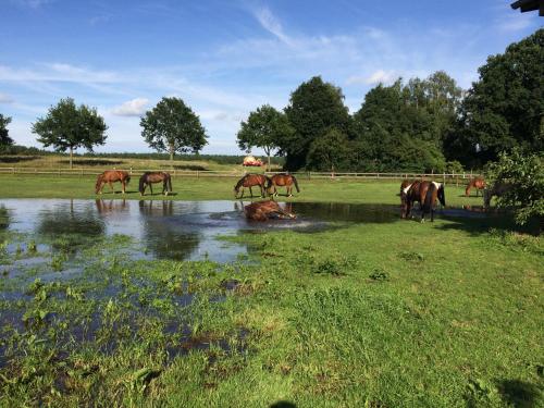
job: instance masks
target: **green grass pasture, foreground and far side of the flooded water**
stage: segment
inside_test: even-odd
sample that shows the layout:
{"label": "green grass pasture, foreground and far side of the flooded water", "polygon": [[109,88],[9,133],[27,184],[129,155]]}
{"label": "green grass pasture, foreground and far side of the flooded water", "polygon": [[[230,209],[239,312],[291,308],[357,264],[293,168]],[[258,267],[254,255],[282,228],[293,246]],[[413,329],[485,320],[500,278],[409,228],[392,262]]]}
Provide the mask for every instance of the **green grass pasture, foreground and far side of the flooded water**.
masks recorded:
{"label": "green grass pasture, foreground and far side of the flooded water", "polygon": [[[91,178],[0,181],[1,198],[95,197]],[[296,200],[398,203],[398,183],[300,184]],[[174,199],[231,199],[232,185],[174,180]],[[481,198],[448,186],[446,202]],[[249,255],[230,264],[134,260],[125,236],[0,230],[0,406],[543,406],[544,245],[512,228],[239,234],[225,239]],[[83,272],[63,279],[67,264]]]}

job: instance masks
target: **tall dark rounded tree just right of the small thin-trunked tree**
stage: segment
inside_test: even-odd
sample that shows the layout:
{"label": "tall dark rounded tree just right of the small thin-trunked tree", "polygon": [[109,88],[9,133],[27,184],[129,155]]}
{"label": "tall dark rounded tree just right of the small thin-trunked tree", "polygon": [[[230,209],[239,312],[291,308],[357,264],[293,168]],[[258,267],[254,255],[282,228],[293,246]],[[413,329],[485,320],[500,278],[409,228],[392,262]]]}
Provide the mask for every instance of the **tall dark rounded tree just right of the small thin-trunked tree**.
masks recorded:
{"label": "tall dark rounded tree just right of the small thin-trunked tree", "polygon": [[347,133],[350,125],[342,90],[320,76],[302,83],[292,95],[285,113],[295,129],[293,137],[281,146],[287,154],[285,166],[298,170],[306,164],[312,141],[331,127]]}

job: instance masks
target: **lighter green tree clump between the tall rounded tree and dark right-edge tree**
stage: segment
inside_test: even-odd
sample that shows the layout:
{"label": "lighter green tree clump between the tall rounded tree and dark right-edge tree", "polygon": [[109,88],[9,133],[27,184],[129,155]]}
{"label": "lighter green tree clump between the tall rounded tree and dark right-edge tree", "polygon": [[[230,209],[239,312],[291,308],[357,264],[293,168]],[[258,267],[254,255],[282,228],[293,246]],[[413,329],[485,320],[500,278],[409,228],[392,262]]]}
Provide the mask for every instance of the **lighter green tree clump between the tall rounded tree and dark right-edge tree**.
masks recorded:
{"label": "lighter green tree clump between the tall rounded tree and dark right-edge tree", "polygon": [[443,171],[442,139],[460,89],[444,72],[407,85],[378,85],[354,115],[354,168],[369,171]]}

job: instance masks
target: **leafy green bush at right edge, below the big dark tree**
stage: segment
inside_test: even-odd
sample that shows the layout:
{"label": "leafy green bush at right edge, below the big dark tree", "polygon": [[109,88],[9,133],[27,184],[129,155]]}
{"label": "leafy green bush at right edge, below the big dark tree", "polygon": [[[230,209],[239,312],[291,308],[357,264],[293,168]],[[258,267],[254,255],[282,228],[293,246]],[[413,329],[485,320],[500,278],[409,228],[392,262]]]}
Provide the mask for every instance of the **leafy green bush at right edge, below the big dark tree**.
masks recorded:
{"label": "leafy green bush at right edge, below the big dark tree", "polygon": [[515,207],[516,221],[526,224],[529,219],[544,218],[544,156],[527,154],[519,149],[500,153],[499,160],[489,166],[491,184],[511,186],[500,197],[497,207]]}

